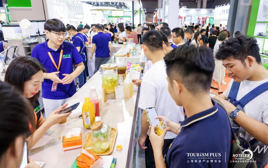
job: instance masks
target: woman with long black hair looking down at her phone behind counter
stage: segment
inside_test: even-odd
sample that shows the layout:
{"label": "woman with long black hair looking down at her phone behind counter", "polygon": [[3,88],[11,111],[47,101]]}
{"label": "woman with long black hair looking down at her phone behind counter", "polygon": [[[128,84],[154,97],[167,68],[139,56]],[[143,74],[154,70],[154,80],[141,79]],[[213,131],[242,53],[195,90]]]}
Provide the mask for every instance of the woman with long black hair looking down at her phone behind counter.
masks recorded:
{"label": "woman with long black hair looking down at her phone behind counter", "polygon": [[44,72],[45,69],[38,60],[32,57],[21,56],[15,58],[9,64],[5,74],[5,82],[13,85],[31,102],[31,111],[35,116],[35,122],[34,124],[30,124],[31,135],[26,138],[29,149],[42,138],[51,126],[61,122],[71,114],[71,112],[58,114],[60,110],[67,106],[67,104],[65,104],[60,106],[57,110],[55,109],[55,111],[44,119],[38,101],[41,84],[44,80]]}

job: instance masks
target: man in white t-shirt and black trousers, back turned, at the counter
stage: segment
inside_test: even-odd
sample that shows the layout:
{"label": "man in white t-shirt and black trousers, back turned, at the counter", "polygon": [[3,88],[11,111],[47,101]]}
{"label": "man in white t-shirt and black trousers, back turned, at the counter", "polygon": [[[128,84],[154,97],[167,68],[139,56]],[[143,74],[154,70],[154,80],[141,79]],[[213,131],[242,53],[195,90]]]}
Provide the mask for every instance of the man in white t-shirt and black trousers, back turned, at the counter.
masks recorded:
{"label": "man in white t-shirt and black trousers, back turned, at the counter", "polygon": [[[184,120],[183,107],[177,106],[168,92],[168,81],[166,80],[166,68],[163,58],[164,42],[162,35],[157,30],[150,30],[143,35],[143,49],[145,56],[152,61],[151,68],[144,74],[140,90],[139,108],[142,113],[142,132],[139,138],[139,146],[145,149],[146,167],[155,167],[152,145],[149,140],[146,108],[155,107],[158,115],[166,116],[170,111],[169,119],[179,123]],[[176,134],[168,132],[165,135],[163,156],[167,152]],[[143,144],[145,143],[145,146]]]}

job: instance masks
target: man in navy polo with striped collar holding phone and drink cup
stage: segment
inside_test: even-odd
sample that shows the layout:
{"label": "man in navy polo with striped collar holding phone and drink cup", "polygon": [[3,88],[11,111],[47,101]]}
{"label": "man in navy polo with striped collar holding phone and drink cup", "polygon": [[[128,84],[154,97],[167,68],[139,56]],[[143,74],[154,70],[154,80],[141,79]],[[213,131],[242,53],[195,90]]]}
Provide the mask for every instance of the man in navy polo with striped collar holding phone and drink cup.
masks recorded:
{"label": "man in navy polo with striped collar holding phone and drink cup", "polygon": [[[176,104],[185,108],[187,119],[180,124],[167,119],[167,127],[160,136],[151,129],[156,167],[226,168],[231,128],[226,112],[209,95],[215,66],[212,51],[204,46],[198,49],[185,44],[172,50],[164,59],[168,91]],[[163,116],[157,118],[165,120]],[[167,131],[177,137],[164,161],[162,147]]]}

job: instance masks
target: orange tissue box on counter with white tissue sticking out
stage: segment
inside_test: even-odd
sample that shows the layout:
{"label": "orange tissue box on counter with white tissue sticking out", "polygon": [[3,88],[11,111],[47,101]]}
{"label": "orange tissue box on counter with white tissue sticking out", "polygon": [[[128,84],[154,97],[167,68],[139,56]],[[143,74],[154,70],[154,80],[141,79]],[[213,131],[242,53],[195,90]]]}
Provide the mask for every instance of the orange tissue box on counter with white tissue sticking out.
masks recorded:
{"label": "orange tissue box on counter with white tissue sticking out", "polygon": [[82,134],[80,136],[73,136],[71,138],[66,138],[63,136],[62,147],[64,151],[82,148]]}

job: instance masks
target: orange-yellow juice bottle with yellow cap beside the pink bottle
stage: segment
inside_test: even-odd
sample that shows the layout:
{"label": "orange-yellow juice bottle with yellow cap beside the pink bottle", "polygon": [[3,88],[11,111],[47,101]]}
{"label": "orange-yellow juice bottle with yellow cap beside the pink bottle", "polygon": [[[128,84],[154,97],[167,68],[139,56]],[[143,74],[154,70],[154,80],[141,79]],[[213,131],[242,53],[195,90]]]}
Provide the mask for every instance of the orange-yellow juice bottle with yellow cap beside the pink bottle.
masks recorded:
{"label": "orange-yellow juice bottle with yellow cap beside the pink bottle", "polygon": [[85,98],[82,106],[83,126],[90,129],[91,124],[95,122],[95,108],[89,97]]}

